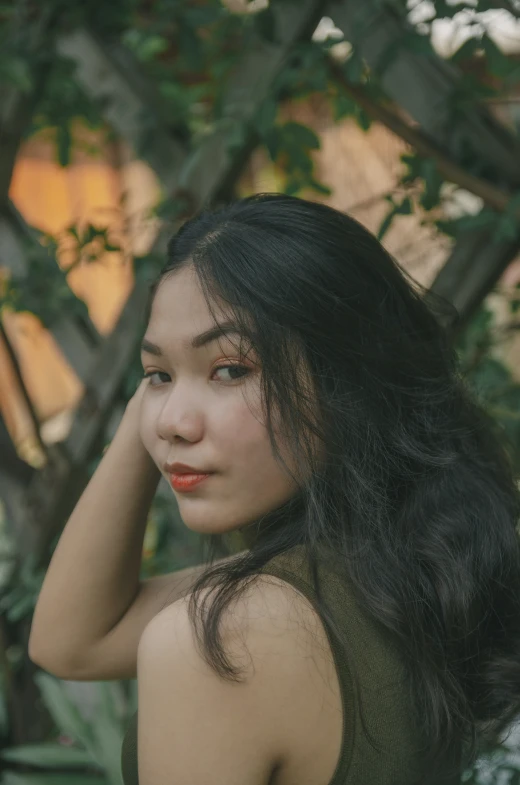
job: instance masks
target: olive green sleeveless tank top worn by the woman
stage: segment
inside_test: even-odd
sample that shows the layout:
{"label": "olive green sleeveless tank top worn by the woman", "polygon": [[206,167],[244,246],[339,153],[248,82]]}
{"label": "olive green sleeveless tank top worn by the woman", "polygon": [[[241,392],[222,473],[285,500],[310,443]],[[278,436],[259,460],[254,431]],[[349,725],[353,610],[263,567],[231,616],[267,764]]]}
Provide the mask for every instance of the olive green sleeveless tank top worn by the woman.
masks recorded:
{"label": "olive green sleeveless tank top worn by the woman", "polygon": [[[297,546],[279,554],[259,572],[292,584],[316,607],[308,562],[301,549]],[[334,656],[343,704],[341,750],[328,785],[417,785],[421,782],[421,756],[398,652],[384,632],[361,612],[349,582],[332,569],[331,562],[325,561],[318,565],[323,598],[336,623],[347,632],[351,645],[347,654],[320,614]],[[352,678],[351,659],[358,673],[357,686]],[[358,690],[365,724],[378,750],[363,729]],[[137,713],[123,740],[121,764],[124,784],[138,785]]]}

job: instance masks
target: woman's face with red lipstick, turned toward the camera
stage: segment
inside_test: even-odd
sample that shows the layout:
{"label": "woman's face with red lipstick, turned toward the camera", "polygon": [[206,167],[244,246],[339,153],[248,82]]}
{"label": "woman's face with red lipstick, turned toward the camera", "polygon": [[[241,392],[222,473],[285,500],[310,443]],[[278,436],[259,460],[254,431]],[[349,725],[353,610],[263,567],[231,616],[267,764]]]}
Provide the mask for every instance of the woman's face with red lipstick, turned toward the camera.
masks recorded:
{"label": "woman's face with red lipstick, turned toward the camera", "polygon": [[[226,321],[224,311],[218,322]],[[166,464],[212,474],[187,492],[172,488],[181,517],[199,533],[223,534],[278,508],[296,484],[275,460],[260,411],[256,358],[239,336],[192,346],[214,327],[192,267],[163,279],[143,340],[146,382],[141,437],[171,486]],[[292,464],[283,452],[284,459]]]}

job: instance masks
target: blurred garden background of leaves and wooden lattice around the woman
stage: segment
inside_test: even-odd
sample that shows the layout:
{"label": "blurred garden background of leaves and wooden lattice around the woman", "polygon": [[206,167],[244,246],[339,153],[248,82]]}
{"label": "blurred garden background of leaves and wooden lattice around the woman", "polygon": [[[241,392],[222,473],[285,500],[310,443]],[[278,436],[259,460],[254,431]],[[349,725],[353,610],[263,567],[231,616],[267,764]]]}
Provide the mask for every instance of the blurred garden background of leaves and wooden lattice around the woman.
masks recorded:
{"label": "blurred garden background of leaves and wooden lattice around the woman", "polygon": [[[148,284],[203,205],[348,212],[452,303],[520,472],[520,0],[0,3],[0,782],[121,782],[136,682],[28,658],[68,515],[140,378]],[[159,488],[142,577],[200,561]],[[520,732],[464,782],[520,785]]]}

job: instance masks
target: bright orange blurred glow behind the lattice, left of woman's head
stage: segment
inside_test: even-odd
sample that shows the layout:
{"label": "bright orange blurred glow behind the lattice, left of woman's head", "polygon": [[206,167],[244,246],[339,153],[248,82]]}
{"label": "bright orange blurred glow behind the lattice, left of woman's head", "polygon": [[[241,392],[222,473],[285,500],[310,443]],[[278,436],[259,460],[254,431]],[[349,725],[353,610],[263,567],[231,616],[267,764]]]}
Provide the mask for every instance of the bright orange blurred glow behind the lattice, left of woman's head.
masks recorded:
{"label": "bright orange blurred glow behind the lattice, left of woman's head", "polygon": [[[85,136],[80,126],[77,132],[78,138]],[[88,134],[90,141],[99,143],[100,154],[88,156],[75,151],[65,168],[55,160],[48,133],[24,143],[9,190],[11,200],[29,225],[60,239],[58,263],[62,267],[73,261],[69,250],[71,237],[62,235],[67,227],[74,224],[81,230],[91,223],[124,235],[121,172],[102,138],[98,135],[96,139],[91,131]],[[86,303],[95,327],[106,334],[117,321],[133,285],[132,264],[119,251],[103,252],[97,261],[82,261],[75,267],[68,283]],[[73,410],[83,393],[83,384],[51,333],[29,313],[4,312],[2,318],[39,420],[45,422]],[[0,408],[14,443],[27,453],[21,448],[34,444],[34,429],[5,347],[0,351]]]}

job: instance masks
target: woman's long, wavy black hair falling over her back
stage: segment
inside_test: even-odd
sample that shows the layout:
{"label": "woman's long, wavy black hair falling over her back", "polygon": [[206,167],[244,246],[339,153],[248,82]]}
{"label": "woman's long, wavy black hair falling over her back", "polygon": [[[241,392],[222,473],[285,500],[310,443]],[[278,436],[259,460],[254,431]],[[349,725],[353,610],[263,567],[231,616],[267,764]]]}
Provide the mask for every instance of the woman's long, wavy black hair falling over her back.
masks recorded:
{"label": "woman's long, wavy black hair falling over her back", "polygon": [[224,303],[259,358],[272,449],[283,461],[276,409],[299,487],[257,522],[263,534],[243,557],[212,564],[211,535],[189,605],[204,656],[237,680],[219,635],[224,609],[292,546],[314,567],[334,553],[402,653],[431,781],[460,772],[520,712],[520,491],[439,301],[357,221],[281,194],[188,220],[156,286],[186,265],[213,317]]}

